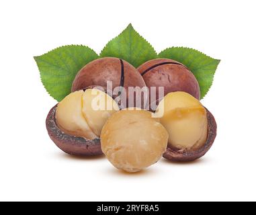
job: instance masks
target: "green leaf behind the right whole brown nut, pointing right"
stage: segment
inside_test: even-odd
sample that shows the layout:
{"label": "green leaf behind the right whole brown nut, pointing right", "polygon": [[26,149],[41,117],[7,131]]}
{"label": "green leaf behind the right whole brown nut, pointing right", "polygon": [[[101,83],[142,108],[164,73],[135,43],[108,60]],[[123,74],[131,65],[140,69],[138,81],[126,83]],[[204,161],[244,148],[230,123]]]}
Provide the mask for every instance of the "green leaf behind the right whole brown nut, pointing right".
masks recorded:
{"label": "green leaf behind the right whole brown nut, pointing right", "polygon": [[192,48],[172,47],[159,53],[159,58],[170,58],[184,64],[198,79],[201,99],[212,85],[220,60],[216,60]]}

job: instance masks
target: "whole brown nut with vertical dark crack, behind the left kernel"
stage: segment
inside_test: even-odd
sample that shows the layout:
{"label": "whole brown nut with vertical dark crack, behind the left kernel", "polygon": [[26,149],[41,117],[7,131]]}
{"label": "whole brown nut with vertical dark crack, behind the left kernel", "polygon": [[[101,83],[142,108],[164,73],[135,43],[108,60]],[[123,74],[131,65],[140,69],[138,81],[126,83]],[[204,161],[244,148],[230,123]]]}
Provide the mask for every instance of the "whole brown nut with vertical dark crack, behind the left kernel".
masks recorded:
{"label": "whole brown nut with vertical dark crack, behind the left kernel", "polygon": [[[90,85],[98,85],[107,89],[108,81],[112,81],[113,89],[121,86],[126,89],[126,92],[128,92],[128,87],[146,87],[144,79],[131,64],[120,58],[104,57],[89,62],[77,73],[71,91],[85,89]],[[127,93],[126,107],[133,107],[134,105],[129,105],[128,97]],[[136,97],[134,97],[135,102]]]}

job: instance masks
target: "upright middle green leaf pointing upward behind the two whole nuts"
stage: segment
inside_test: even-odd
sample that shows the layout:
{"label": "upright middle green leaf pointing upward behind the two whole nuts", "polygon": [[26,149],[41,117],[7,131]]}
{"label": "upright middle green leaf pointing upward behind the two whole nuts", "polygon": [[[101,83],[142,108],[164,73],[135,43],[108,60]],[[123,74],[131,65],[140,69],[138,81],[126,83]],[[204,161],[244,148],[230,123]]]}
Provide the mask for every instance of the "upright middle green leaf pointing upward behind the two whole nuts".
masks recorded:
{"label": "upright middle green leaf pointing upward behind the two whole nuts", "polygon": [[129,24],[119,36],[106,44],[99,56],[115,56],[130,62],[134,67],[138,67],[147,60],[157,58],[157,52]]}

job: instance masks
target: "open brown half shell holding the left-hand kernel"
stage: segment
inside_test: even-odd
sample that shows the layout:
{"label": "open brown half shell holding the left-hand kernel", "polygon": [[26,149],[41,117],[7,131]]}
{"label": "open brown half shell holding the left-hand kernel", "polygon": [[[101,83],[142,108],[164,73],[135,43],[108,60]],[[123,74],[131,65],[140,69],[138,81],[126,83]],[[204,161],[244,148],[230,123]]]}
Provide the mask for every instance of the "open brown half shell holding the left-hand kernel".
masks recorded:
{"label": "open brown half shell holding the left-hand kernel", "polygon": [[71,136],[69,134],[65,134],[60,130],[60,128],[58,128],[55,121],[56,107],[57,105],[52,107],[46,118],[46,129],[56,146],[70,155],[102,155],[103,153],[99,138],[89,140],[77,136]]}

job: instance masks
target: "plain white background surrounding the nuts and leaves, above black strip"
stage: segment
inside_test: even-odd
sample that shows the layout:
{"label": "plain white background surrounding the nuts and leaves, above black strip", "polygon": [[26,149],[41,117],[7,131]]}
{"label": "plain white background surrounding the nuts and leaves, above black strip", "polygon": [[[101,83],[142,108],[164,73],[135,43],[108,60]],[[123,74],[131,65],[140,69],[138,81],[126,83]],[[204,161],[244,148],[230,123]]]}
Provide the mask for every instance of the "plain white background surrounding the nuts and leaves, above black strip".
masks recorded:
{"label": "plain white background surrounding the nuts and leaves, above black strip", "polygon": [[[255,1],[1,1],[0,200],[256,200]],[[202,103],[218,135],[194,163],[162,159],[142,173],[76,158],[50,140],[33,56],[67,44],[97,53],[132,23],[160,52],[196,48],[222,61]]]}

